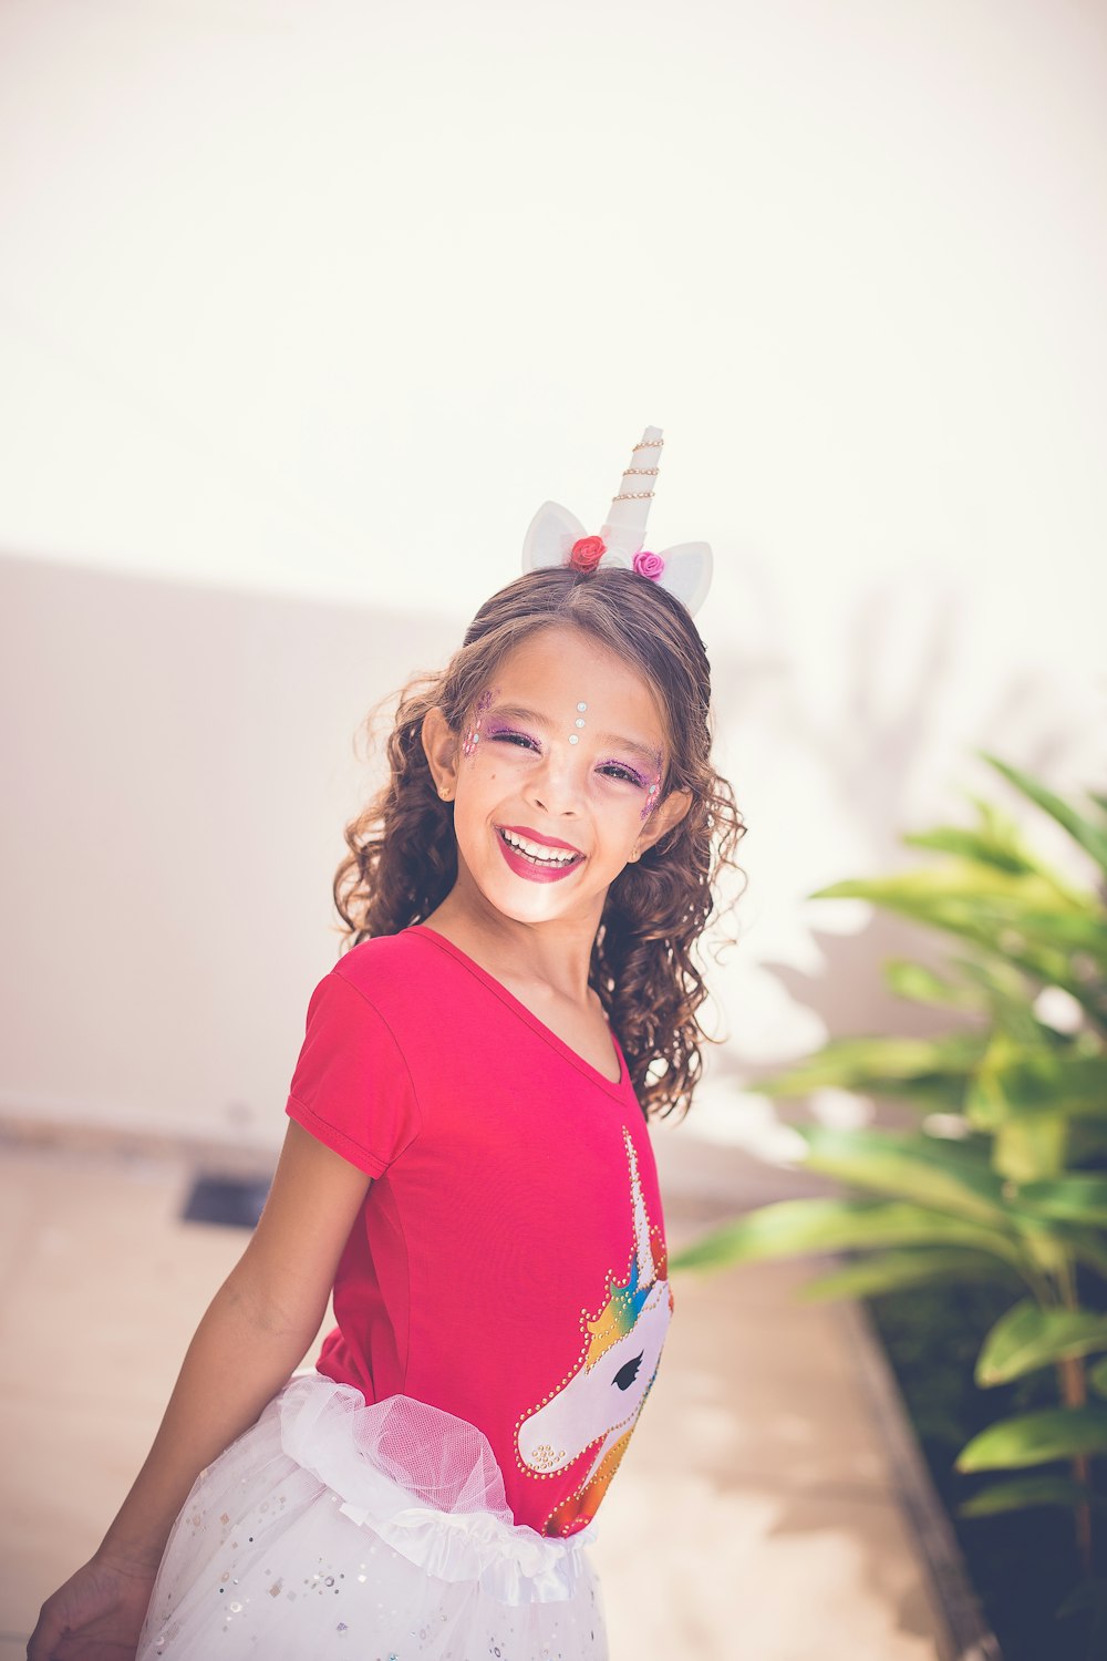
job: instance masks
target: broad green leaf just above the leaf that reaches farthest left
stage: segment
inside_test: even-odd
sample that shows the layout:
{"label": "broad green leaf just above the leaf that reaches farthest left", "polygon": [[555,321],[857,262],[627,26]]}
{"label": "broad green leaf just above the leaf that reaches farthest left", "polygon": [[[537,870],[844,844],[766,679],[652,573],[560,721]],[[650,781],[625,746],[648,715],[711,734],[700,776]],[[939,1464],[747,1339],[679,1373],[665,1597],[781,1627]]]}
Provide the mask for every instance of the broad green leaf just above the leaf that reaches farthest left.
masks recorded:
{"label": "broad green leaf just above the leaf that reaches farthest left", "polygon": [[976,1222],[1009,1226],[1002,1183],[964,1146],[895,1131],[831,1131],[797,1126],[805,1164],[855,1188],[933,1208]]}

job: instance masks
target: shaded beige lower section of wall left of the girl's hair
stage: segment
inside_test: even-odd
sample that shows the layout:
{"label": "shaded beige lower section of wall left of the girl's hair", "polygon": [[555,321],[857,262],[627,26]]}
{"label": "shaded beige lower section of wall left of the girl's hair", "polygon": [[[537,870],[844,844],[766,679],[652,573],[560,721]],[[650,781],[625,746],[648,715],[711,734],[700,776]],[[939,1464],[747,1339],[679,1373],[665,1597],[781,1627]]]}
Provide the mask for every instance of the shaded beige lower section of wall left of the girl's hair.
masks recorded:
{"label": "shaded beige lower section of wall left of the girl's hair", "polygon": [[0,1111],[274,1141],[354,736],[456,621],[0,560]]}

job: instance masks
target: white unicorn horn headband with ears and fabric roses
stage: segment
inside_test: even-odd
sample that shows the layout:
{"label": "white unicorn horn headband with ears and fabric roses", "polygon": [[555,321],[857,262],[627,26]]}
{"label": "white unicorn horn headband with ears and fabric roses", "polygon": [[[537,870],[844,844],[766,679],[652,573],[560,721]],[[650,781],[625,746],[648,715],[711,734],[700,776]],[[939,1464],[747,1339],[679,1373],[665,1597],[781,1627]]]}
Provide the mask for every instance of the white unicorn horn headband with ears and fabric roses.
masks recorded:
{"label": "white unicorn horn headband with ears and fabric roses", "polygon": [[538,571],[546,565],[571,565],[578,571],[622,566],[675,595],[689,611],[697,611],[710,588],[709,545],[682,541],[661,553],[649,553],[644,546],[662,443],[661,427],[647,427],[641,443],[634,445],[599,537],[589,537],[568,508],[543,502],[523,543],[523,570]]}

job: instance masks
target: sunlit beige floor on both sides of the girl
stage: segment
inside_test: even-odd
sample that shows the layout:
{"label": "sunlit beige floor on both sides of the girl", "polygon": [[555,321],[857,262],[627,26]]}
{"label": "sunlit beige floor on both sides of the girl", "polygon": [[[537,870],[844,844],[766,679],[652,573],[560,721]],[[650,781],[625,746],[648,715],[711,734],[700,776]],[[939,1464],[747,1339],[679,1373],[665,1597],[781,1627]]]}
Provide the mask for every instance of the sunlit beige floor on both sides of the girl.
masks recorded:
{"label": "sunlit beige floor on both sides of the girl", "polygon": [[[657,1138],[672,1244],[722,1193],[767,1198],[745,1156],[679,1134]],[[40,1601],[96,1545],[246,1242],[179,1221],[191,1176],[173,1156],[3,1151],[0,1661],[23,1654]],[[666,1359],[593,1548],[612,1661],[938,1654],[855,1332],[835,1306],[792,1299],[803,1272],[675,1282]]]}

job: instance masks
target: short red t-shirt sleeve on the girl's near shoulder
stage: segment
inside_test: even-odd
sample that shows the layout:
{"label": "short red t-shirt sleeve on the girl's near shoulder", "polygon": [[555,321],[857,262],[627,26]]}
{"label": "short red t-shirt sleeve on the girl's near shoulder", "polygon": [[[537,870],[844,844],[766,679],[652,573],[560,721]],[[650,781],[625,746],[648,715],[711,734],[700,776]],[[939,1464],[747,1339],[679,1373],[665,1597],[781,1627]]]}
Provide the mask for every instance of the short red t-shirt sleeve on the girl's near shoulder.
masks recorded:
{"label": "short red t-shirt sleeve on the girl's near shoulder", "polygon": [[337,968],[307,1005],[285,1113],[368,1176],[383,1176],[420,1131],[412,1078],[388,1023]]}

